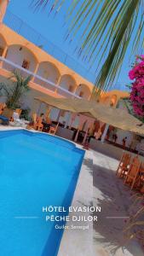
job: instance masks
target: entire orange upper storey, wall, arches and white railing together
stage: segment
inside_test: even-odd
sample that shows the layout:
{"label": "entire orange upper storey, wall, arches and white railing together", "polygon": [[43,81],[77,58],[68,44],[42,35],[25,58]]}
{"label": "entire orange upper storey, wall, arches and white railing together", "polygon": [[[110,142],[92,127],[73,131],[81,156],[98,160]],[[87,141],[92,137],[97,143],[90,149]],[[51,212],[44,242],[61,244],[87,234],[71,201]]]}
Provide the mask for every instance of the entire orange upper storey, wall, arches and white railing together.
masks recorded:
{"label": "entire orange upper storey, wall, arches and white railing together", "polygon": [[[14,69],[25,77],[32,76],[32,89],[55,97],[89,100],[93,90],[89,81],[3,24],[0,30],[0,74],[9,77]],[[101,101],[115,106],[121,96],[125,94],[113,90],[102,94]]]}

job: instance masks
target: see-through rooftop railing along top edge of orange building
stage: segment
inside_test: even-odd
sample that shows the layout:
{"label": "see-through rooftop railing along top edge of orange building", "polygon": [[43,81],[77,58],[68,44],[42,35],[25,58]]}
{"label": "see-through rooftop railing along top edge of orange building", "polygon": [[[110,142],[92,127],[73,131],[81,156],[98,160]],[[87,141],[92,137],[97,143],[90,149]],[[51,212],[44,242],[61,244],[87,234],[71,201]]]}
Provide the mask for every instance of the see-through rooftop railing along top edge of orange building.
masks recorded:
{"label": "see-through rooftop railing along top edge of orange building", "polygon": [[34,30],[31,26],[28,26],[23,20],[16,15],[12,14],[9,9],[4,17],[4,23],[9,26],[14,32],[17,32],[33,44],[36,44],[39,48],[45,50],[49,55],[55,57],[55,59],[64,63],[67,67],[72,68],[76,73],[79,73],[82,77],[95,82],[95,73],[91,73],[78,61],[67,55],[63,50],[58,48],[55,44],[49,42],[47,38],[44,38],[40,33]]}

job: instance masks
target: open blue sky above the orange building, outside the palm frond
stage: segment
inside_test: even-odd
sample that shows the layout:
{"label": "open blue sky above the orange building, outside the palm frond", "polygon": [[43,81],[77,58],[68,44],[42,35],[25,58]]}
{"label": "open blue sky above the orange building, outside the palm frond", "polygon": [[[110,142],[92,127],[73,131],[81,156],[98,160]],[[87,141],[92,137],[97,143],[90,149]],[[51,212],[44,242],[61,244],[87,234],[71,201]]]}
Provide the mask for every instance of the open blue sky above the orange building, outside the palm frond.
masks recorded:
{"label": "open blue sky above the orange building, outside the palm frond", "polygon": [[[62,59],[67,61],[66,65],[71,63],[71,67],[74,67],[75,71],[80,73],[82,76],[86,76],[89,81],[94,82],[96,77],[95,66],[89,70],[88,64],[82,61],[78,57],[78,54],[74,52],[79,44],[78,36],[72,41],[72,43],[70,43],[69,39],[66,40],[68,25],[65,22],[65,18],[69,0],[66,1],[58,15],[54,15],[54,13],[49,15],[49,6],[44,11],[34,12],[30,6],[31,3],[32,0],[11,0],[4,22],[7,24],[9,12],[20,17],[20,19],[26,22],[28,26],[31,26],[35,31],[40,33],[45,40],[49,40],[49,49],[51,49],[51,52],[55,53],[55,57],[59,54]],[[28,29],[26,29],[26,36],[30,38],[32,37],[31,31]],[[35,33],[33,37],[34,36]],[[114,88],[125,90],[125,84],[130,84],[128,77],[130,65],[131,63],[129,59],[125,58],[118,82],[114,84]]]}

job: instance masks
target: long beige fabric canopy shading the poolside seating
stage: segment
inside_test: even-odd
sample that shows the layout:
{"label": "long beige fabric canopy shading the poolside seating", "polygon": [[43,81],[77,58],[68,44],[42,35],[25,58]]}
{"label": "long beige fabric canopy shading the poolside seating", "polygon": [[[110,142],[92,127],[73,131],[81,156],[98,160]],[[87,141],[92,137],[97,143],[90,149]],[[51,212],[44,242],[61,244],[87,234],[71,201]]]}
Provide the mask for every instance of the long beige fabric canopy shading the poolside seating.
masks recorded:
{"label": "long beige fabric canopy shading the poolside seating", "polygon": [[58,99],[53,96],[47,96],[46,100],[43,98],[35,98],[35,100],[72,113],[82,113],[124,131],[132,131],[144,136],[144,124],[142,124],[139,119],[136,119],[133,115],[120,108],[112,108],[98,102],[89,102],[78,98]]}

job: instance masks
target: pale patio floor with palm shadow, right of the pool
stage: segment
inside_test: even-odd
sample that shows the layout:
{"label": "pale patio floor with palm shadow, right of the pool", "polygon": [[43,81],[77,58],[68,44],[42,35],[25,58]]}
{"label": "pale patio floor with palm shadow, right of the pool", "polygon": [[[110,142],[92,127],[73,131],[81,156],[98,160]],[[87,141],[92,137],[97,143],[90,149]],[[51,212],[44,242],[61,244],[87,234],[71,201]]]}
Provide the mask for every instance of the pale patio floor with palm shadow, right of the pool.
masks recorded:
{"label": "pale patio floor with palm shadow, right of the pool", "polygon": [[144,255],[137,241],[125,244],[124,219],[129,217],[131,191],[116,177],[117,166],[118,160],[92,150],[86,152],[72,205],[93,204],[100,206],[101,212],[95,212],[98,221],[93,224],[93,230],[89,224],[89,230],[65,231],[59,256]]}

